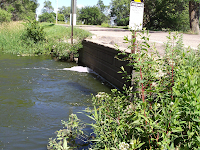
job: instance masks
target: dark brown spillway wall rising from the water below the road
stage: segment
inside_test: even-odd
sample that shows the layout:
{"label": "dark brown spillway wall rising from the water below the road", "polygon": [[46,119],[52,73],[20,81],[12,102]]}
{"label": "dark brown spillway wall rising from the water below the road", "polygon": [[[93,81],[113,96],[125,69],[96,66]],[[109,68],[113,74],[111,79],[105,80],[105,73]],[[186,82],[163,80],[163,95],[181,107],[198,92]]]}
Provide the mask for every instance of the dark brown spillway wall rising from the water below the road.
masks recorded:
{"label": "dark brown spillway wall rising from the water below the road", "polygon": [[[107,45],[98,44],[90,40],[83,41],[83,48],[79,50],[79,63],[93,69],[100,76],[105,78],[111,84],[122,90],[126,83],[122,79],[121,66],[124,66],[128,74],[131,74],[132,68],[127,66],[128,62],[120,61],[115,58],[118,51]],[[126,83],[130,85],[130,83]]]}

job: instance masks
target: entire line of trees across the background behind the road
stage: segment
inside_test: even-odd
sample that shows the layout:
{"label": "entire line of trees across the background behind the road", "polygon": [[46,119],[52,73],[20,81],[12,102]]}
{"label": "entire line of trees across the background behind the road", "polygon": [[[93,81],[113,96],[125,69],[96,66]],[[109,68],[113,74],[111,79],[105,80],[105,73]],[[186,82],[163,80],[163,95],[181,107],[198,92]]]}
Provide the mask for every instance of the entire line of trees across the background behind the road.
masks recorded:
{"label": "entire line of trees across the background behind the road", "polygon": [[[117,26],[129,24],[131,0],[111,0],[110,5],[104,5],[98,0],[94,6],[77,8],[78,24],[101,25],[110,24],[114,18]],[[37,0],[0,0],[0,22],[4,20],[34,19]],[[143,26],[150,30],[192,30],[199,33],[200,0],[145,0]],[[40,22],[55,22],[56,13],[51,1],[44,2]],[[62,6],[58,10],[58,21],[70,20],[71,7]]]}

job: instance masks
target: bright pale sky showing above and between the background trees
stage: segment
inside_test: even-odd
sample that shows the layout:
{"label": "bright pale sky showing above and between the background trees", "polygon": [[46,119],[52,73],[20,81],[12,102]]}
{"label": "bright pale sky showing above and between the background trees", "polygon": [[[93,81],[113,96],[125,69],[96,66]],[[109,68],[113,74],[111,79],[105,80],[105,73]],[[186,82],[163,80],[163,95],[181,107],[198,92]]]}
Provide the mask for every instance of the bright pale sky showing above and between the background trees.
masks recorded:
{"label": "bright pale sky showing above and between the background trees", "polygon": [[[54,9],[57,8],[57,0],[49,0],[51,1],[51,5]],[[109,5],[111,0],[102,0],[104,5]],[[44,7],[45,0],[38,0],[38,3],[40,4],[39,7],[36,10],[37,16],[41,14],[42,8]],[[84,6],[94,6],[96,5],[98,0],[77,0],[77,6],[79,8]],[[58,8],[62,6],[71,6],[71,0],[58,0]]]}

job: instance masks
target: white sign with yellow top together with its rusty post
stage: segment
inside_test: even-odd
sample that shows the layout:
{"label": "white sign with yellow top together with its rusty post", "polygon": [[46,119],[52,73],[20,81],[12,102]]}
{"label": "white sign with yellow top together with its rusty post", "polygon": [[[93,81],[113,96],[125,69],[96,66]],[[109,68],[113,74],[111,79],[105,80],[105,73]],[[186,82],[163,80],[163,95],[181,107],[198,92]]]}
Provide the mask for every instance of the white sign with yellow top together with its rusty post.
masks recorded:
{"label": "white sign with yellow top together with its rusty post", "polygon": [[[132,30],[132,49],[131,53],[135,53],[135,43],[136,43],[136,31],[142,30],[144,15],[144,3],[143,0],[132,0],[130,4],[130,19],[129,28]],[[135,39],[135,40],[134,40]]]}

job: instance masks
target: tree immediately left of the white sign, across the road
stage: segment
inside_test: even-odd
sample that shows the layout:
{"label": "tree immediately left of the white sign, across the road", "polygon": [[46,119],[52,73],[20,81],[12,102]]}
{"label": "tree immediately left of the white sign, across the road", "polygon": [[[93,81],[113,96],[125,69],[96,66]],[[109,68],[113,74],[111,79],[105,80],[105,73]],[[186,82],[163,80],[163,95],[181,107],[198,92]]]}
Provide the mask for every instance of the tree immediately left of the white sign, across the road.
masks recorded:
{"label": "tree immediately left of the white sign, across the road", "polygon": [[131,0],[112,0],[111,1],[111,17],[117,17],[115,22],[119,26],[127,26],[129,24]]}

